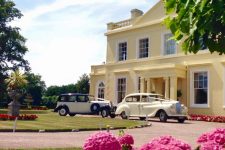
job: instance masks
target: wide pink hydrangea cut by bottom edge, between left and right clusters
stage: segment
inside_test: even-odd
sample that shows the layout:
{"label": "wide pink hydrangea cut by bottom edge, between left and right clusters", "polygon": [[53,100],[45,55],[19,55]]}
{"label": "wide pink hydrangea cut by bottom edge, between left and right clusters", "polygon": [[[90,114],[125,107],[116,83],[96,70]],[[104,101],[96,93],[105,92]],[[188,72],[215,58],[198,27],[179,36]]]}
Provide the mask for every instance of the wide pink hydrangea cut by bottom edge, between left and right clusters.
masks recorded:
{"label": "wide pink hydrangea cut by bottom edge, between left and right clusters", "polygon": [[143,145],[140,150],[191,150],[191,146],[172,136],[161,136]]}

